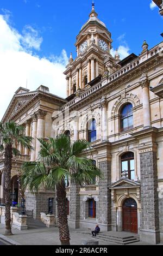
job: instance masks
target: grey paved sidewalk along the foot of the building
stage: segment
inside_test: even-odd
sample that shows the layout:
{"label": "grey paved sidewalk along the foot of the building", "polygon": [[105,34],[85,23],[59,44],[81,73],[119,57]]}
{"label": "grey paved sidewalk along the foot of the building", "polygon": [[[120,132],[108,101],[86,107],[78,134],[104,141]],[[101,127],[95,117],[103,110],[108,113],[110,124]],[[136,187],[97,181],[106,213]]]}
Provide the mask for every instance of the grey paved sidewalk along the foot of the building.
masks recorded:
{"label": "grey paved sidewalk along the foot of the building", "polygon": [[[58,228],[44,228],[44,229],[30,229],[19,231],[17,229],[12,229],[13,236],[2,236],[4,234],[4,225],[0,224],[0,238],[3,237],[5,241],[9,241],[16,245],[60,245],[59,240],[59,230]],[[71,245],[82,245],[83,239],[90,240],[92,237],[90,235],[80,234],[78,231],[81,229],[74,230],[70,229],[71,234]],[[83,231],[83,230],[82,230]],[[11,241],[12,240],[12,241]],[[109,243],[106,241],[99,241],[99,245],[115,245],[114,243]],[[137,242],[131,245],[148,245],[147,243]]]}

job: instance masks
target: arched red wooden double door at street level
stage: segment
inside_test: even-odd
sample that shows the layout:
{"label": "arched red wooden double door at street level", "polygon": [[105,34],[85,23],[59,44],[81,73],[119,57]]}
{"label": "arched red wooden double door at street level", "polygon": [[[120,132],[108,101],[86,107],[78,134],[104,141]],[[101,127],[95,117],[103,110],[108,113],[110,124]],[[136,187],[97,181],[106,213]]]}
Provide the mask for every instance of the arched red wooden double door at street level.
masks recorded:
{"label": "arched red wooden double door at street level", "polygon": [[137,204],[133,198],[128,198],[122,206],[123,231],[137,233]]}

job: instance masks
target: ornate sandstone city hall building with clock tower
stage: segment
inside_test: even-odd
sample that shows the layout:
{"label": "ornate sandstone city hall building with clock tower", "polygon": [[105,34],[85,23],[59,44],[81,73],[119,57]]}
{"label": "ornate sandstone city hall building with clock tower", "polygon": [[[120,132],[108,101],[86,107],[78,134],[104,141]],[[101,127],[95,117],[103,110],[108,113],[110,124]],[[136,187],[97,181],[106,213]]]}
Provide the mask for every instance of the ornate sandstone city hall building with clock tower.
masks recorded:
{"label": "ornate sandstone city hall building with clock tower", "polygon": [[[98,19],[95,5],[77,35],[77,57],[66,67],[67,98],[41,85],[36,91],[18,88],[2,122],[14,120],[34,138],[34,151],[18,145],[21,155],[12,161],[11,190],[21,201],[21,165],[35,161],[36,138],[67,134],[71,141],[86,139],[104,178],[84,187],[65,181],[68,223],[72,228],[127,231],[142,241],[163,242],[163,53],[146,41],[140,55],[120,60],[110,54],[111,33]],[[1,204],[4,203],[4,154],[0,156]],[[26,210],[57,216],[52,190],[25,193]]]}

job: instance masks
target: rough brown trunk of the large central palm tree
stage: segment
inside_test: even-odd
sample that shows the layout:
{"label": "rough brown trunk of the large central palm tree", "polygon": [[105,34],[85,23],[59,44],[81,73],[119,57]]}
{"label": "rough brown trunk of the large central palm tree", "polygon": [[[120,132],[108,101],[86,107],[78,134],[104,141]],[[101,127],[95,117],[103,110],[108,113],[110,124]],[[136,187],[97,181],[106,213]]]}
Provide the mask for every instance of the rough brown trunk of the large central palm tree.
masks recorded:
{"label": "rough brown trunk of the large central palm tree", "polygon": [[66,209],[66,188],[65,182],[57,186],[57,211],[59,222],[59,237],[61,245],[70,245],[70,231],[68,228]]}

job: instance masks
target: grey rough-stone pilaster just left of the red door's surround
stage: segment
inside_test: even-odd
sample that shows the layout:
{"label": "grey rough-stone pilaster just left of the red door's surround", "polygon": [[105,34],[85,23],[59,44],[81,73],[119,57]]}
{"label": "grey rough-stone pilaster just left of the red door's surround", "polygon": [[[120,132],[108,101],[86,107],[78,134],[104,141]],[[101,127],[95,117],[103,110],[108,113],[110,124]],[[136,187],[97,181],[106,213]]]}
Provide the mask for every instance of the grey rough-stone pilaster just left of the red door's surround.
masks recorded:
{"label": "grey rough-stone pilaster just left of the red door's surround", "polygon": [[97,209],[97,222],[102,231],[111,230],[111,145],[109,142],[102,142],[95,146],[98,151],[98,168],[103,174],[99,179],[99,201]]}

